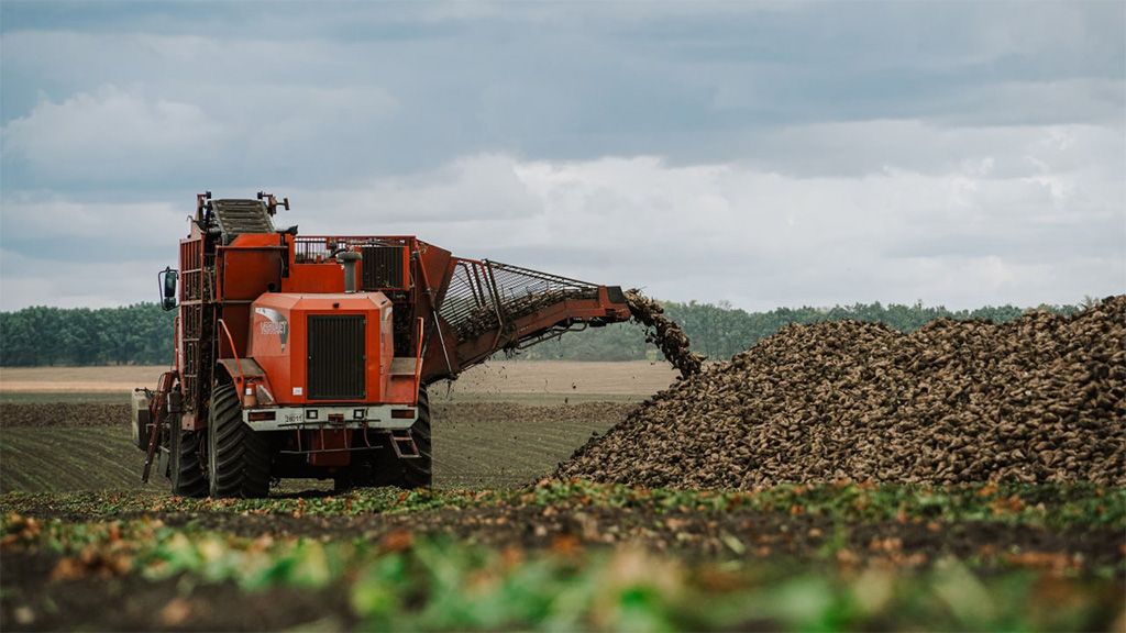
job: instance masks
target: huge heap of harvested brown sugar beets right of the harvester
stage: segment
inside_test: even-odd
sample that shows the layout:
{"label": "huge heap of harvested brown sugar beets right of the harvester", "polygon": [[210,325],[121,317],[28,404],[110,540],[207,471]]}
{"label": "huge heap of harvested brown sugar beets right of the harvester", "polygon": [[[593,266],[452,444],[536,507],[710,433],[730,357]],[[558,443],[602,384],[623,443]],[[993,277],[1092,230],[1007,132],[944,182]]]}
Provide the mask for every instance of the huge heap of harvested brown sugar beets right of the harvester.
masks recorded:
{"label": "huge heap of harvested brown sugar beets right of the harvester", "polygon": [[790,326],[595,437],[557,476],[751,489],[838,480],[1126,484],[1126,295],[903,335]]}

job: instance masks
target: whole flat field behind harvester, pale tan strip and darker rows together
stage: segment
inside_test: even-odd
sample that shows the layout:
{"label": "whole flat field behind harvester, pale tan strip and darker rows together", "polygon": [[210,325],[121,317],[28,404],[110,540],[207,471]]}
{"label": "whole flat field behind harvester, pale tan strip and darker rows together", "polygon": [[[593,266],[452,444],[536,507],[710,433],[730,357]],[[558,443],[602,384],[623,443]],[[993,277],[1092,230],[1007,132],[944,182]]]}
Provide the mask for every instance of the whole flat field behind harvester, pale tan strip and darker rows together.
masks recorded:
{"label": "whole flat field behind harvester, pale tan strip and darker rows together", "polygon": [[[137,489],[142,455],[129,439],[128,393],[161,371],[0,368],[0,491]],[[431,385],[435,484],[535,481],[674,378],[660,363],[510,362]]]}

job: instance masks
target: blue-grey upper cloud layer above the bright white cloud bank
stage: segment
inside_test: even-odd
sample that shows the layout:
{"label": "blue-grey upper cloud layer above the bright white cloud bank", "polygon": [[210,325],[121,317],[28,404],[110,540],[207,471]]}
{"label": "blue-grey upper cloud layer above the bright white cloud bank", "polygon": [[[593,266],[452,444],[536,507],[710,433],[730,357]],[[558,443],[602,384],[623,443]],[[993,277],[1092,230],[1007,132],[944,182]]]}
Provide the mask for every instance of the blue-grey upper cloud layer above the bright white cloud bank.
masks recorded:
{"label": "blue-grey upper cloud layer above the bright white cloud bank", "polygon": [[[132,6],[82,6],[89,19],[74,21],[86,30],[17,19],[2,35],[6,136],[45,118],[34,108],[116,86],[150,109],[194,108],[212,126],[206,160],[187,158],[198,152],[186,140],[163,140],[184,169],[154,169],[167,161],[153,152],[114,161],[123,173],[149,170],[138,187],[175,186],[184,173],[324,187],[482,152],[797,170],[792,154],[806,148],[771,144],[779,130],[905,119],[1120,134],[1126,107],[1114,5],[268,7],[172,5],[134,17]],[[169,27],[187,14],[196,19]],[[101,28],[110,24],[118,28]],[[300,37],[285,37],[295,24]],[[69,114],[69,125],[99,124]],[[9,188],[98,186],[105,170],[83,163],[86,152],[70,152],[73,169],[37,161],[51,142],[8,144]],[[808,169],[857,164],[830,153]]]}

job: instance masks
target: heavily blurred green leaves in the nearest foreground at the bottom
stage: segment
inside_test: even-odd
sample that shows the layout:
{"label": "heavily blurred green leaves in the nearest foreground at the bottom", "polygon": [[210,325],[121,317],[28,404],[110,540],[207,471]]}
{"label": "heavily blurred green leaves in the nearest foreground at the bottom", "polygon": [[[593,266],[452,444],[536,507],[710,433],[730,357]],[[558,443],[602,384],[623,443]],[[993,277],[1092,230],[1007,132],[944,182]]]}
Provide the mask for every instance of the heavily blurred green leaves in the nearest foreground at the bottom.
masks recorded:
{"label": "heavily blurred green leaves in the nearest foreground at the bottom", "polygon": [[325,605],[347,596],[350,613],[327,614],[316,628],[1105,630],[1120,606],[1114,579],[983,571],[950,556],[921,568],[722,562],[565,540],[525,550],[408,532],[367,543],[245,538],[145,519],[3,524],[8,551],[65,556],[55,567],[65,578],[141,574],[245,596],[294,588]]}

